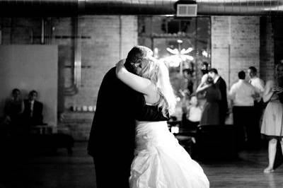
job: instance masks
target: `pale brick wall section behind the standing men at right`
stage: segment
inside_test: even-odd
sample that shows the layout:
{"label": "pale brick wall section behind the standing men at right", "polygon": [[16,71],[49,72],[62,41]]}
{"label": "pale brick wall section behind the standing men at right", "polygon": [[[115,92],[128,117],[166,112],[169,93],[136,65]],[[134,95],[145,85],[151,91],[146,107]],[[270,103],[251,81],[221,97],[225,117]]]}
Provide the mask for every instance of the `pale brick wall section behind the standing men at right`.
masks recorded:
{"label": "pale brick wall section behind the standing men at right", "polygon": [[260,69],[260,17],[212,16],[212,67],[227,88],[238,81],[238,71]]}

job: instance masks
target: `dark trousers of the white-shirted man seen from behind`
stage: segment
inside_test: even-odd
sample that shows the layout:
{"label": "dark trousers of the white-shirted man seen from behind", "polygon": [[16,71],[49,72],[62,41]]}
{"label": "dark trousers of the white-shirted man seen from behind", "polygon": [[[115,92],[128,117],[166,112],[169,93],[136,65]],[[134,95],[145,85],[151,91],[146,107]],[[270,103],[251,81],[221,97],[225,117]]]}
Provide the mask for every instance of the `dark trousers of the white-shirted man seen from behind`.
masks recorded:
{"label": "dark trousers of the white-shirted man seen from behind", "polygon": [[243,148],[245,139],[247,139],[246,143],[248,147],[253,148],[257,146],[257,144],[260,144],[257,143],[255,108],[253,106],[234,106],[233,124],[236,128],[236,145],[238,149]]}

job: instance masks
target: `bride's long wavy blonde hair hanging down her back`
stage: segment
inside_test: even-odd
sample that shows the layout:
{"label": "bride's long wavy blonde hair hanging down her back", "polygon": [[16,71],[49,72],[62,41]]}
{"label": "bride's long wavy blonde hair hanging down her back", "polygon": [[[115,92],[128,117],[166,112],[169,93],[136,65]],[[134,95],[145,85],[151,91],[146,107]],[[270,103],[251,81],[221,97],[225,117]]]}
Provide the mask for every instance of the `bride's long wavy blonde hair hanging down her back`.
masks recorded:
{"label": "bride's long wavy blonde hair hanging down her back", "polygon": [[169,72],[167,66],[155,59],[154,57],[146,57],[141,59],[141,64],[145,64],[139,76],[151,80],[161,95],[158,101],[158,107],[161,107],[164,117],[168,117],[175,111],[176,98],[171,86]]}

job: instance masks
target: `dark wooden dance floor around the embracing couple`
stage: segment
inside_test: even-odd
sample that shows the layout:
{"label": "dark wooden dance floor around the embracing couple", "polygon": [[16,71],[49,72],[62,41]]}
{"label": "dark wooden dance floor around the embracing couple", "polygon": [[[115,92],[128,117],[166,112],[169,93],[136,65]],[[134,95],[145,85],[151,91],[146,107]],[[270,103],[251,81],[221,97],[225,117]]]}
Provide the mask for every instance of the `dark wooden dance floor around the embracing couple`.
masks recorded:
{"label": "dark wooden dance floor around the embracing couple", "polygon": [[[267,166],[266,147],[258,151],[242,151],[238,160],[199,163],[211,187],[283,187],[283,165],[271,174],[262,172]],[[1,159],[0,172],[0,188],[96,187],[92,158],[86,154],[86,143],[75,143],[71,156],[64,149],[59,149],[56,154],[13,155]]]}

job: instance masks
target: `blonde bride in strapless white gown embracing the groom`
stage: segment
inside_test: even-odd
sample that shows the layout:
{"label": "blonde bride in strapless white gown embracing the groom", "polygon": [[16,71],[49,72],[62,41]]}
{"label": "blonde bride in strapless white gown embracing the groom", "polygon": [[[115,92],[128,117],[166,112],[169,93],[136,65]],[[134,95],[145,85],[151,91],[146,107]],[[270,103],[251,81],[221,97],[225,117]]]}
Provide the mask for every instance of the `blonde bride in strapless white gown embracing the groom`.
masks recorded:
{"label": "blonde bride in strapless white gown embracing the groom", "polygon": [[[175,109],[175,95],[168,68],[154,57],[140,59],[137,74],[125,69],[124,61],[116,64],[116,74],[129,87],[144,94],[147,105],[158,106],[165,117]],[[201,188],[209,181],[200,165],[190,158],[168,130],[166,121],[138,122],[136,151],[132,161],[131,188]]]}

